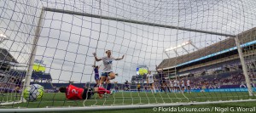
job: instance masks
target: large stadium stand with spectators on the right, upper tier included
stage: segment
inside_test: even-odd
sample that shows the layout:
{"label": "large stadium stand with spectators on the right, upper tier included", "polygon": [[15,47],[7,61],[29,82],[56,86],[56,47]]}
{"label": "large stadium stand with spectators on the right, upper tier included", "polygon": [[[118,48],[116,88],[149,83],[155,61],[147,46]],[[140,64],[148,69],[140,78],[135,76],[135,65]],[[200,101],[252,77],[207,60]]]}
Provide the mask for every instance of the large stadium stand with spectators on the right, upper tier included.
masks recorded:
{"label": "large stadium stand with spectators on the right, upper tier included", "polygon": [[[241,45],[244,45],[242,49],[247,51],[244,57],[250,80],[254,87],[256,82],[256,45],[255,43],[247,44],[255,42],[255,38],[251,37],[256,37],[256,28],[238,34]],[[237,49],[230,49],[235,47],[236,42],[233,37],[227,37],[224,40],[219,39],[219,42],[213,43],[206,48],[174,58],[164,59],[157,68],[164,69],[170,81],[173,81],[176,75],[178,80],[189,79],[193,89],[202,87],[244,88],[247,86],[241,71],[241,61]],[[227,51],[224,52],[224,50]],[[159,78],[157,77],[157,79]],[[136,77],[131,80],[136,80]]]}

